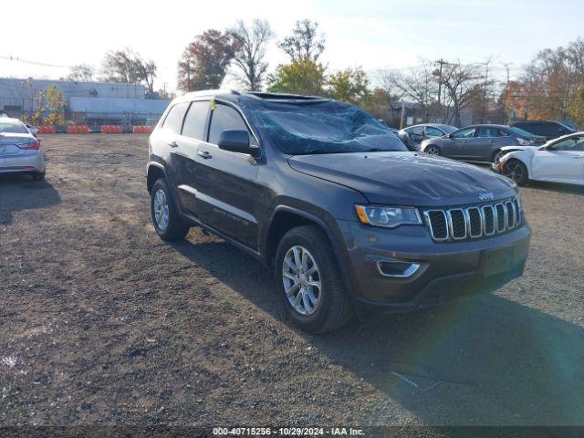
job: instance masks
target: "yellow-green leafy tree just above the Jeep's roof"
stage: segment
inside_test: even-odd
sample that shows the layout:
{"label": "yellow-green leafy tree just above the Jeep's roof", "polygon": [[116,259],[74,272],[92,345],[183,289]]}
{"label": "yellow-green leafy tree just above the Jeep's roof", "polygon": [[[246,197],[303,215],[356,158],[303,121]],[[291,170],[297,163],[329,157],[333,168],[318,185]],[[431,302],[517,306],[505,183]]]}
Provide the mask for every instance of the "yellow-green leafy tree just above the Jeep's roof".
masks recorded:
{"label": "yellow-green leafy tree just above the Jeep's roof", "polygon": [[267,84],[272,93],[320,95],[326,85],[325,68],[308,59],[292,61],[278,66],[276,73],[267,78]]}

